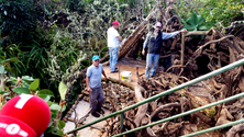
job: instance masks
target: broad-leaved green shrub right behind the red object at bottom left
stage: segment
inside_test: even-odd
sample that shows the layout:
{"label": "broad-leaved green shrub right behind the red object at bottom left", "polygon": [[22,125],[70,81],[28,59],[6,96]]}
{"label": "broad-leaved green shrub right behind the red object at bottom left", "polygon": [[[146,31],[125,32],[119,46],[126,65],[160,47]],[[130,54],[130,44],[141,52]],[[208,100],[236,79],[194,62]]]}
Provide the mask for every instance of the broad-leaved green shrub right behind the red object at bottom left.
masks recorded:
{"label": "broad-leaved green shrub right behind the red object at bottom left", "polygon": [[[42,98],[48,104],[51,114],[52,114],[52,119],[44,135],[48,135],[48,136],[64,135],[63,128],[65,127],[65,122],[57,119],[57,117],[62,112],[65,111],[66,107],[63,103],[57,104],[51,101],[51,99],[54,98],[54,94],[51,90],[47,90],[47,89],[41,90],[40,80],[38,79],[33,80],[31,77],[22,77],[22,79],[19,79],[19,80],[16,78],[11,77],[11,79],[8,80],[8,83],[9,83],[7,84],[8,87],[14,87],[12,91],[14,91],[16,94],[22,94],[22,93],[34,94]],[[26,85],[26,83],[30,83],[30,84]],[[7,89],[10,89],[10,88],[7,88]],[[62,84],[62,87],[59,87],[59,93],[62,94],[63,98],[65,98],[64,91],[66,90],[67,90],[67,87],[65,84]],[[3,93],[11,95],[10,94],[11,92],[1,92],[0,95]],[[11,96],[11,98],[14,98],[14,96]]]}

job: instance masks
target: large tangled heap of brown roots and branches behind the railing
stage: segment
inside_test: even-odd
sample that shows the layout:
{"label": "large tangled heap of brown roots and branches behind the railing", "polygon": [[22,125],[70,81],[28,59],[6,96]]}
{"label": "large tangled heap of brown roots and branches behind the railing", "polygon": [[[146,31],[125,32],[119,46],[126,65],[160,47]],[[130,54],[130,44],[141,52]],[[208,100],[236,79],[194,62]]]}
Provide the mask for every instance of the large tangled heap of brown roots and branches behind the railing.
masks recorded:
{"label": "large tangled heap of brown roots and branches behind the railing", "polygon": [[[130,50],[138,53],[136,43],[147,33],[147,24],[151,21],[160,20],[164,24],[164,32],[175,32],[182,27],[180,20],[173,14],[170,8],[159,9],[157,16],[155,12],[149,13],[145,22],[123,44],[120,58]],[[202,41],[196,41],[192,36],[202,35]],[[218,68],[232,64],[244,55],[243,39],[233,35],[224,35],[217,28],[203,32],[188,32],[177,35],[163,43],[159,66],[164,58],[170,57],[173,66],[166,72],[159,71],[154,78],[145,80],[137,76],[138,85],[131,89],[115,83],[103,83],[106,102],[103,107],[115,112],[149,96],[162,93],[170,88],[185,83],[191,79],[206,75]],[[108,64],[108,62],[107,62]],[[104,65],[107,65],[104,64]],[[160,70],[160,69],[159,69]],[[120,128],[120,115],[107,121],[106,136],[112,136],[123,130],[130,130],[152,122],[163,119],[199,106],[207,105],[219,100],[232,96],[244,91],[243,66],[223,72],[217,77],[204,80],[180,91],[159,98],[151,103],[141,105],[124,113],[123,129]],[[81,75],[84,71],[81,72]],[[82,92],[85,96],[88,92]],[[88,101],[88,98],[84,98]],[[244,99],[226,102],[176,118],[175,121],[147,127],[127,136],[181,136],[204,128],[226,124],[243,118]],[[202,134],[200,136],[243,136],[244,124],[223,128],[221,130]]]}

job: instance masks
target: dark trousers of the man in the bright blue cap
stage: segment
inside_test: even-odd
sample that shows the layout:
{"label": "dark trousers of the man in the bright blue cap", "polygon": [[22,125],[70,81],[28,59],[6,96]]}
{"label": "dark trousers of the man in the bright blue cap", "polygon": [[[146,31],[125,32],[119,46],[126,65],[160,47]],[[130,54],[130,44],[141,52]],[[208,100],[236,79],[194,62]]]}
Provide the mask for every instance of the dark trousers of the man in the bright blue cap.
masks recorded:
{"label": "dark trousers of the man in the bright blue cap", "polygon": [[91,88],[91,90],[92,91],[89,93],[90,107],[91,107],[91,113],[95,113],[97,110],[101,109],[106,98],[101,87]]}

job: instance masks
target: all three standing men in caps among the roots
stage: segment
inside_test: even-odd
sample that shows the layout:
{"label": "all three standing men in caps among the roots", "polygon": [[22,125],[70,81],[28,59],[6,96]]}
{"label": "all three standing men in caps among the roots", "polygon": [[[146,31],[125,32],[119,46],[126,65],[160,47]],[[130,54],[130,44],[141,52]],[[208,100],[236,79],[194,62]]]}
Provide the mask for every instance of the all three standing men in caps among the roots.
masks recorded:
{"label": "all three standing men in caps among the roots", "polygon": [[[108,47],[110,54],[110,72],[118,72],[117,60],[119,54],[119,43],[122,42],[119,30],[120,23],[118,21],[112,22],[112,26],[108,30]],[[146,55],[146,68],[145,68],[145,78],[154,77],[156,75],[156,69],[159,60],[160,48],[163,47],[162,43],[164,39],[174,37],[179,33],[187,32],[187,30],[177,31],[174,33],[163,33],[162,23],[156,22],[155,30],[148,32],[146,39],[143,44],[142,54],[145,55],[145,48],[147,47],[148,52]],[[89,101],[91,115],[99,117],[100,114],[104,114],[104,111],[101,109],[104,102],[104,94],[101,88],[101,75],[108,79],[103,67],[100,62],[100,57],[95,55],[92,57],[92,65],[87,69],[86,84],[87,90],[89,91]],[[152,67],[153,64],[153,67]],[[152,70],[151,70],[152,68]],[[165,68],[167,69],[167,68]]]}

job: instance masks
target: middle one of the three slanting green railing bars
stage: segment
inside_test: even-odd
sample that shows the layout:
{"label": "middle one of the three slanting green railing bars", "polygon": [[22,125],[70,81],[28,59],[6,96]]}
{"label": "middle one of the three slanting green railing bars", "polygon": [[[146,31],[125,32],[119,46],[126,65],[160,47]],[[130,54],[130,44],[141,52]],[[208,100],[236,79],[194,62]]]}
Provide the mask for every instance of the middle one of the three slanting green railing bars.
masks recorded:
{"label": "middle one of the three slanting green railing bars", "polygon": [[240,93],[240,94],[236,94],[236,95],[233,95],[233,96],[230,96],[230,98],[226,98],[226,99],[221,100],[221,101],[218,101],[218,102],[213,102],[213,103],[211,103],[211,104],[207,104],[207,105],[201,106],[201,107],[197,107],[197,109],[195,109],[195,110],[190,110],[190,111],[188,111],[188,112],[180,113],[180,114],[178,114],[178,115],[174,115],[174,116],[170,116],[170,117],[167,117],[167,118],[164,118],[164,119],[160,119],[160,121],[157,121],[157,122],[147,124],[147,125],[145,125],[145,126],[141,126],[141,127],[137,127],[137,128],[134,128],[134,129],[131,129],[131,130],[127,130],[127,132],[124,132],[124,133],[114,135],[113,137],[119,137],[119,136],[122,136],[122,135],[125,135],[125,134],[134,133],[134,132],[136,132],[136,130],[143,129],[143,128],[146,128],[146,127],[151,127],[151,126],[154,126],[154,125],[157,125],[157,124],[162,124],[162,123],[165,123],[165,122],[170,121],[170,119],[179,118],[179,117],[181,117],[181,116],[186,116],[186,115],[189,115],[189,114],[191,114],[191,113],[199,112],[199,111],[201,111],[201,110],[204,110],[204,109],[208,109],[208,107],[212,107],[212,106],[215,106],[215,105],[218,105],[218,104],[222,104],[222,103],[225,103],[225,102],[229,102],[229,101],[232,101],[232,100],[242,98],[242,96],[244,96],[244,92],[243,92],[243,93]]}

